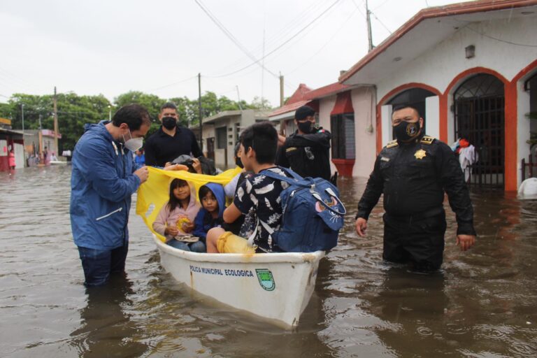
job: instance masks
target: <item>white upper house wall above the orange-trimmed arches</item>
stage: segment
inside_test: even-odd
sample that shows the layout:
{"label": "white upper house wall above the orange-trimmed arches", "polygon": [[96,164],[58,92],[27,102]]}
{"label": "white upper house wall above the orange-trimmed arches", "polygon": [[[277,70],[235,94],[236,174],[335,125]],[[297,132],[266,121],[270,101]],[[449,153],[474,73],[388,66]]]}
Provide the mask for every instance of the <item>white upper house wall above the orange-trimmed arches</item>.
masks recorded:
{"label": "white upper house wall above the orange-trimmed arches", "polygon": [[[537,34],[535,17],[517,17],[510,21],[490,20],[468,25],[488,36],[515,43],[534,44]],[[475,45],[475,57],[471,59],[465,57],[464,48],[468,45]],[[499,42],[461,27],[453,36],[413,59],[402,71],[391,73],[380,80],[376,84],[378,99],[382,99],[395,87],[413,82],[430,85],[443,93],[459,73],[478,66],[497,71],[511,80],[536,58],[536,48]]]}

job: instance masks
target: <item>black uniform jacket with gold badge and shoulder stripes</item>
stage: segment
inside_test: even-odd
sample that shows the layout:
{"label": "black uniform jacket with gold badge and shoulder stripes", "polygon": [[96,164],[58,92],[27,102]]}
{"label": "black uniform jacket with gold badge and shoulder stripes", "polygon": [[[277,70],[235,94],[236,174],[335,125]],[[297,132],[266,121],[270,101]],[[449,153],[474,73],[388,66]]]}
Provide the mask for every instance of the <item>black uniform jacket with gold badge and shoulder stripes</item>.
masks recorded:
{"label": "black uniform jacket with gold badge and shoulder stripes", "polygon": [[392,141],[375,161],[357,217],[367,220],[380,194],[384,194],[384,209],[390,216],[431,212],[442,208],[444,191],[457,215],[457,234],[475,235],[468,187],[451,148],[429,136],[411,143]]}

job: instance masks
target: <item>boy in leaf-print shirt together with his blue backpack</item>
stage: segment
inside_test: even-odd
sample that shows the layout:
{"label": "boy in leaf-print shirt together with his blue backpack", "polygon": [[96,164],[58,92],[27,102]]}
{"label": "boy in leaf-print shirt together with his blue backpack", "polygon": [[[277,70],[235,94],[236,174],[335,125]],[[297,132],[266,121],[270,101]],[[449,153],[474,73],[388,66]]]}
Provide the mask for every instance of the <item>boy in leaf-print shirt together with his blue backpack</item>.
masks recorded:
{"label": "boy in leaf-print shirt together with his blue backpack", "polygon": [[278,133],[269,122],[243,131],[241,161],[254,175],[238,187],[233,203],[224,210],[224,222],[249,214],[253,220],[241,228],[243,233],[250,231],[249,238],[210,229],[207,252],[313,252],[337,244],[345,215],[338,189],[322,178],[301,178],[275,166],[277,147]]}

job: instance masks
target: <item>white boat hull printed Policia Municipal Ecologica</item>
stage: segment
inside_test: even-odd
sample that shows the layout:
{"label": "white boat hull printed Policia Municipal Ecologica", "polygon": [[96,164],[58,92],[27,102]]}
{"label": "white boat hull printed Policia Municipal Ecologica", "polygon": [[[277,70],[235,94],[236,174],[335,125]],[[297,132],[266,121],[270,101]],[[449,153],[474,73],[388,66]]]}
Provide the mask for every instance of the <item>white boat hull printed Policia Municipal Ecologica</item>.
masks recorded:
{"label": "white boat hull printed Policia Municipal Ecologica", "polygon": [[153,235],[162,267],[179,282],[290,329],[310,301],[324,251],[206,254],[178,250]]}

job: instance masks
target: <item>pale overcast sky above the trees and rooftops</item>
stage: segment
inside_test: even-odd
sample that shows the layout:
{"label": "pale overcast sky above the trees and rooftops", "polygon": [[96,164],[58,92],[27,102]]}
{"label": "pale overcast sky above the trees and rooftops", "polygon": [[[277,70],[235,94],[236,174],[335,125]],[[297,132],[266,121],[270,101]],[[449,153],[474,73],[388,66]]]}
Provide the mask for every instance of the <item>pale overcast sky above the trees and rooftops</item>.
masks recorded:
{"label": "pale overcast sky above the trees and rooftops", "polygon": [[[373,44],[420,9],[454,2],[369,0]],[[364,0],[0,0],[0,101],[55,85],[110,101],[129,90],[193,99],[201,73],[203,92],[237,99],[238,86],[241,99],[278,106],[273,74],[290,96],[299,83],[336,82],[366,55],[365,13]],[[255,64],[263,54],[267,71]]]}

